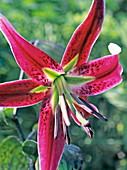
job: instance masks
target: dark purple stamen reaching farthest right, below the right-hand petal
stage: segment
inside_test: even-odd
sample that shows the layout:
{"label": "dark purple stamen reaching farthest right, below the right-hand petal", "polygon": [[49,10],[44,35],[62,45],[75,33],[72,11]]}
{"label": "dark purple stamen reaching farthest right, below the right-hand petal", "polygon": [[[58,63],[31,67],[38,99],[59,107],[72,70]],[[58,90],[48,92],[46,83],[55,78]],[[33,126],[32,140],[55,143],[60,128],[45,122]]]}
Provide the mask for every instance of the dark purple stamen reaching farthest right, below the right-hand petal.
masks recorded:
{"label": "dark purple stamen reaching farthest right, below the right-hand petal", "polygon": [[91,114],[93,114],[95,117],[97,117],[98,119],[104,120],[104,121],[108,121],[106,117],[102,116],[100,113],[98,113],[88,102],[86,102],[85,100],[83,100],[80,97],[76,97],[74,94],[70,93],[70,95],[73,97],[73,99],[79,104],[79,105],[85,105],[86,107],[86,111],[89,110],[89,112]]}

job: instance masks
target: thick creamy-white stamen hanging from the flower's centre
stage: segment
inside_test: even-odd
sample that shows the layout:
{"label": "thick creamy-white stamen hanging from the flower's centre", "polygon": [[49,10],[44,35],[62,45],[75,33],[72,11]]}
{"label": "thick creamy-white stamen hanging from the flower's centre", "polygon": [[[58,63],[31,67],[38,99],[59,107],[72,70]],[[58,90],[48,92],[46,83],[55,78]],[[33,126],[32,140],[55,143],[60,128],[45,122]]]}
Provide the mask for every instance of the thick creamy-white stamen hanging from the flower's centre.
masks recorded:
{"label": "thick creamy-white stamen hanging from the flower's centre", "polygon": [[71,123],[70,123],[70,119],[69,119],[69,116],[68,116],[67,103],[66,103],[64,94],[59,96],[59,103],[60,103],[60,108],[61,108],[61,111],[62,111],[63,119],[64,119],[66,125],[70,126]]}

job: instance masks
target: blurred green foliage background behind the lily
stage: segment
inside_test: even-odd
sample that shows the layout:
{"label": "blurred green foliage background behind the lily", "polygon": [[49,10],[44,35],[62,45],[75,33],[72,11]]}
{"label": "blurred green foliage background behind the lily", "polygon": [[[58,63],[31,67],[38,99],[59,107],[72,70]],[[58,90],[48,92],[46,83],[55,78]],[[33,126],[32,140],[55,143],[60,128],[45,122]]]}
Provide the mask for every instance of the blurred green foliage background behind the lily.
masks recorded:
{"label": "blurred green foliage background behind the lily", "polygon": [[[73,31],[85,19],[91,2],[92,0],[1,0],[0,12],[28,41],[43,39],[66,47]],[[126,0],[106,0],[104,24],[90,60],[109,55],[107,46],[110,42],[122,48],[119,59],[124,69],[123,82],[104,94],[89,97],[89,102],[98,107],[100,113],[108,118],[108,122],[95,117],[89,118],[94,129],[93,139],[73,120],[69,128],[71,143],[79,146],[83,152],[85,170],[127,170]],[[0,33],[0,82],[17,80],[19,73],[20,69]],[[38,105],[19,109],[19,120],[26,136],[37,123],[38,114]],[[2,113],[0,116],[0,141],[8,135],[18,135],[13,118],[9,120],[8,126],[3,123]],[[7,113],[7,121],[9,116]],[[36,135],[33,139],[36,139]]]}

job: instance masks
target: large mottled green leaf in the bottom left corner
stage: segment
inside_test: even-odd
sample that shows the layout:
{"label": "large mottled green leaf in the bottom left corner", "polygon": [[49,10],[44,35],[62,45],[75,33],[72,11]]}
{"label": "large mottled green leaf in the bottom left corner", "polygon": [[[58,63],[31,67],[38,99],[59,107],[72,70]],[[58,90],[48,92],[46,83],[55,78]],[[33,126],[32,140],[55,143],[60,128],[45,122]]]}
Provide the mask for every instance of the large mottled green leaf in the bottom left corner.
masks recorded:
{"label": "large mottled green leaf in the bottom left corner", "polygon": [[28,166],[18,138],[10,136],[4,139],[0,144],[0,170],[25,170]]}

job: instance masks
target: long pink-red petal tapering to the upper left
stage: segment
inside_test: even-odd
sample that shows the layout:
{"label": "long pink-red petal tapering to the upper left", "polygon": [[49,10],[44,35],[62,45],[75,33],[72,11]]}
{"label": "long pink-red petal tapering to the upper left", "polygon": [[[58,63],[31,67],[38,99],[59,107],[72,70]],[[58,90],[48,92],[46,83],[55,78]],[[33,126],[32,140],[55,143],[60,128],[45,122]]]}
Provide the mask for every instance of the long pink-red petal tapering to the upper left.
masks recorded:
{"label": "long pink-red petal tapering to the upper left", "polygon": [[62,67],[56,61],[26,41],[2,14],[0,14],[0,29],[9,42],[19,66],[39,84],[51,85],[51,80],[42,71],[44,67],[63,73]]}

